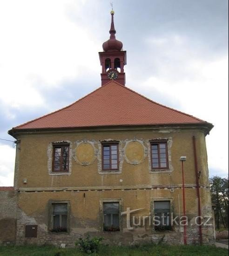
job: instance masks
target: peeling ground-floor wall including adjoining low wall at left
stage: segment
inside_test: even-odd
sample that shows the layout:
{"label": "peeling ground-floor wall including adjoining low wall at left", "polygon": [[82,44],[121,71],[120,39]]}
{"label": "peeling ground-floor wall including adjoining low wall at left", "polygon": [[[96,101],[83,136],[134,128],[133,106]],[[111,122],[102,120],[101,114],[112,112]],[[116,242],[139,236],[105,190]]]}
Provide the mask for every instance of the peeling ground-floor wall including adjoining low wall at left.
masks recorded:
{"label": "peeling ground-floor wall including adjoining low wall at left", "polygon": [[[192,198],[195,189],[187,188],[187,194]],[[202,194],[208,191],[202,190]],[[150,224],[149,218],[143,224],[143,217],[153,212],[155,200],[171,199],[171,209],[175,216],[179,216],[179,202],[175,193],[169,189],[113,189],[113,190],[88,190],[88,191],[0,191],[0,243],[16,244],[53,244],[60,246],[65,243],[67,247],[74,247],[77,239],[83,236],[102,236],[105,244],[135,244],[135,243],[167,243],[183,244],[183,229],[172,226],[169,231],[156,231]],[[54,233],[50,230],[50,200],[66,202],[69,201],[69,232]],[[105,232],[101,218],[103,210],[100,202],[120,202],[120,230],[117,232]],[[202,226],[203,244],[214,243],[211,213],[209,212],[209,201],[202,207],[204,217],[202,222],[208,225]],[[136,226],[131,218],[132,230],[127,229],[127,215],[121,212],[126,209],[139,209],[136,214],[137,223],[141,217],[141,225]],[[197,204],[192,201],[187,204],[189,212],[189,226],[187,226],[187,243],[199,244],[199,227],[195,223],[197,216]],[[153,216],[152,214],[150,216]],[[37,225],[37,237],[26,237],[26,225]]]}

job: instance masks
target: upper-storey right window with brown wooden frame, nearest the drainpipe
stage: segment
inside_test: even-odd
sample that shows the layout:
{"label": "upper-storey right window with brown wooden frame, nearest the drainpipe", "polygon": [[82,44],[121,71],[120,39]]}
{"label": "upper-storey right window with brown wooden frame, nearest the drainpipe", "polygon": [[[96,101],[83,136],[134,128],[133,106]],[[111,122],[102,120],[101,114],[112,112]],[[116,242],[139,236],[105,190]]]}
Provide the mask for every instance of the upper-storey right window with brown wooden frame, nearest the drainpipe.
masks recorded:
{"label": "upper-storey right window with brown wooden frame, nearest the drainpipe", "polygon": [[167,141],[151,142],[151,167],[153,169],[168,168]]}

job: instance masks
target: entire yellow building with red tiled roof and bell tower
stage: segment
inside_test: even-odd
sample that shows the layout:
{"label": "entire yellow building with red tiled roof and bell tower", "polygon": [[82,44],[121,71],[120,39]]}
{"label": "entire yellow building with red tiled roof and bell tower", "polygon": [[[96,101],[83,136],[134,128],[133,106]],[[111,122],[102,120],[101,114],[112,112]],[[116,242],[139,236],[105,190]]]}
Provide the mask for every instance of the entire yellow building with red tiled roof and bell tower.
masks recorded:
{"label": "entire yellow building with red tiled roof and bell tower", "polygon": [[212,243],[205,136],[213,125],[125,86],[126,51],[111,18],[101,87],[9,131],[17,140],[15,241],[73,246],[89,234],[183,243],[183,164],[187,243]]}

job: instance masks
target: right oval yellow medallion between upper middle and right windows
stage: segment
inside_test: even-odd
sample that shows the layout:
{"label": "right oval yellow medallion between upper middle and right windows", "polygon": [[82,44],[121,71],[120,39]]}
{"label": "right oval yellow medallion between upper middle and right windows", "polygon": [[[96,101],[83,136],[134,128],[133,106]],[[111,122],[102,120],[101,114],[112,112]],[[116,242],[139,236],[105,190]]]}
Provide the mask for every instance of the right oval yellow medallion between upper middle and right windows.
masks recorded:
{"label": "right oval yellow medallion between upper middle and right windows", "polygon": [[127,141],[125,146],[125,158],[130,164],[139,164],[145,159],[145,148],[140,141]]}

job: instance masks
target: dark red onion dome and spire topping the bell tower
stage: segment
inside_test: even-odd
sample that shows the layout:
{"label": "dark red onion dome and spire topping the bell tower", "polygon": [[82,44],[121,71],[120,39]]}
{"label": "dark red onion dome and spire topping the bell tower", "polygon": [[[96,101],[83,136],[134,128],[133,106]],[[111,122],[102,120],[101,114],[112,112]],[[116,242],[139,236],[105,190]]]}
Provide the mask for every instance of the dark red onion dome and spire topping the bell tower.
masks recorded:
{"label": "dark red onion dome and spire topping the bell tower", "polygon": [[115,38],[116,30],[114,28],[114,11],[113,9],[110,12],[111,14],[111,26],[110,26],[110,39],[102,44],[102,48],[105,52],[121,51],[122,42]]}

